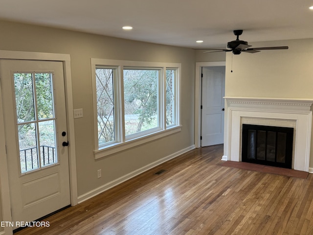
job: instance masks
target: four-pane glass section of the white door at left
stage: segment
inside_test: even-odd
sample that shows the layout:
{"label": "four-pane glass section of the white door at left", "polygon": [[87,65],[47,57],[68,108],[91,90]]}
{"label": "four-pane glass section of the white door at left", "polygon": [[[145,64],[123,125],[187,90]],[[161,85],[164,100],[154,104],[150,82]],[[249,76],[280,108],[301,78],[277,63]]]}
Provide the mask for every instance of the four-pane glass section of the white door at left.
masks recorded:
{"label": "four-pane glass section of the white door at left", "polygon": [[21,173],[58,162],[52,73],[14,73]]}

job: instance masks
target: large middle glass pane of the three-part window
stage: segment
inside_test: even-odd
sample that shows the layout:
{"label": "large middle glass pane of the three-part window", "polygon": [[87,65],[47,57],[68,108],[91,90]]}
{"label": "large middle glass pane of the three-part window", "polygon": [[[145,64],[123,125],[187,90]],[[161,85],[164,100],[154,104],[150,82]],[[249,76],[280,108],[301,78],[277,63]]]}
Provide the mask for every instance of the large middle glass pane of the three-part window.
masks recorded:
{"label": "large middle glass pane of the three-part window", "polygon": [[158,70],[124,70],[125,135],[158,127]]}

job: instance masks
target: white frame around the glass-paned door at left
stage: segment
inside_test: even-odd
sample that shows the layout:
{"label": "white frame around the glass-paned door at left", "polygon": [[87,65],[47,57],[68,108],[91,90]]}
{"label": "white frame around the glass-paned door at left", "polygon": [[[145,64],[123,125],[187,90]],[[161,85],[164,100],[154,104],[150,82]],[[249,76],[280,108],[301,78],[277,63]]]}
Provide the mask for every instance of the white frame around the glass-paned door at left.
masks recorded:
{"label": "white frame around the glass-paned door at left", "polygon": [[[56,54],[45,52],[26,52],[26,51],[10,51],[0,50],[0,59],[15,60],[44,60],[44,61],[61,61],[63,62],[64,85],[66,94],[66,113],[67,113],[67,137],[70,145],[68,145],[68,164],[69,164],[69,190],[71,206],[78,204],[77,196],[77,177],[76,177],[76,158],[75,158],[75,135],[74,135],[74,115],[73,115],[73,95],[72,81],[70,71],[70,55]],[[1,84],[0,84],[1,86]],[[2,219],[3,221],[12,221],[11,203],[9,193],[9,177],[5,151],[5,134],[3,121],[2,94],[0,89],[0,192],[2,199]],[[12,227],[4,227],[4,231],[0,235],[13,234]]]}

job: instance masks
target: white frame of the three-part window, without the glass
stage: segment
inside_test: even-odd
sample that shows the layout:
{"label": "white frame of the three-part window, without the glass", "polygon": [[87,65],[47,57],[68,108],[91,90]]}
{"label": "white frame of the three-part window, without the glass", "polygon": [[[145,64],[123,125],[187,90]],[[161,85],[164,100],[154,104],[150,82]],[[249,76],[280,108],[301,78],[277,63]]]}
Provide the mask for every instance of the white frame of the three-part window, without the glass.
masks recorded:
{"label": "white frame of the three-part window, without the glass", "polygon": [[[114,93],[114,121],[115,141],[99,146],[97,123],[97,94],[96,94],[96,68],[116,69],[113,77]],[[153,69],[160,70],[158,78],[158,127],[125,136],[124,119],[124,69]],[[166,70],[175,70],[175,121],[166,126]],[[180,63],[141,62],[91,58],[92,100],[93,100],[93,126],[94,126],[94,158],[99,159],[128,148],[157,140],[181,131],[180,124]],[[116,97],[115,97],[116,96]],[[115,107],[116,105],[116,107]]]}

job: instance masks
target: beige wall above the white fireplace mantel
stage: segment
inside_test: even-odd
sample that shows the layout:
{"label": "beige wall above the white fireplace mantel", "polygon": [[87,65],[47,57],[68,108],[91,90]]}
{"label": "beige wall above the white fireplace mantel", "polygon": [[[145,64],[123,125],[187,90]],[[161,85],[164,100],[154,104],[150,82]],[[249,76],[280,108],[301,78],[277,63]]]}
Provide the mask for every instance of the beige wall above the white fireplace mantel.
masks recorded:
{"label": "beige wall above the white fireplace mantel", "polygon": [[[225,96],[313,99],[313,39],[251,45],[289,46],[289,49],[241,53],[233,58],[227,53]],[[310,167],[313,167],[313,137]]]}

